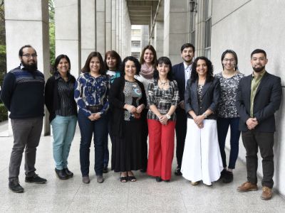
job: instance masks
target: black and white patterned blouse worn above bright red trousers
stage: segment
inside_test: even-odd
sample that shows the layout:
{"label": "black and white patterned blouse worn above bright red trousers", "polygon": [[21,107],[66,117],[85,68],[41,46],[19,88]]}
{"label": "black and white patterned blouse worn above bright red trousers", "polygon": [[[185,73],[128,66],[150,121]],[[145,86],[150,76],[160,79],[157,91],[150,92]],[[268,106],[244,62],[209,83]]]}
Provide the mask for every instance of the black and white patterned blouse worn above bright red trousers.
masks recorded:
{"label": "black and white patterned blouse worn above bright red trousers", "polygon": [[[160,114],[165,115],[170,110],[171,106],[177,106],[179,102],[179,92],[177,82],[170,81],[168,89],[160,89],[157,80],[151,80],[148,84],[147,102],[149,105],[155,105]],[[147,119],[159,121],[159,118],[149,109],[147,112]],[[176,121],[176,114],[171,115],[170,121]]]}

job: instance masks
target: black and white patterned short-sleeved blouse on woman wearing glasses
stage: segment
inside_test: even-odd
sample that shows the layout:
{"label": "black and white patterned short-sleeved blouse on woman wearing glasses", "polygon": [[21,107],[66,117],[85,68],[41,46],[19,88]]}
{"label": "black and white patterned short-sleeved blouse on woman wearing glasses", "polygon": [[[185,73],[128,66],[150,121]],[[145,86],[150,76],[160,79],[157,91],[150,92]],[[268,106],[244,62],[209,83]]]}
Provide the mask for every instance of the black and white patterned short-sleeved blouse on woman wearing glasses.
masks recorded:
{"label": "black and white patterned short-sleeved blouse on woman wearing glasses", "polygon": [[237,118],[236,95],[239,81],[244,77],[244,74],[237,72],[236,75],[225,78],[222,72],[219,72],[214,77],[219,79],[220,100],[218,107],[218,116],[221,118]]}

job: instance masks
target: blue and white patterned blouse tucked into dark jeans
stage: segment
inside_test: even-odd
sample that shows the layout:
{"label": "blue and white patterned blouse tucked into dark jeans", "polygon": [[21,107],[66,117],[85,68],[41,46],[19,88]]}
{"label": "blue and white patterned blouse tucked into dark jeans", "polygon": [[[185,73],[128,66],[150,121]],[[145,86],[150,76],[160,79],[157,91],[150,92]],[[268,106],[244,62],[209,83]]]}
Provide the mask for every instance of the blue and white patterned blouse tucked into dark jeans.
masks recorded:
{"label": "blue and white patterned blouse tucked into dark jeans", "polygon": [[110,89],[110,81],[107,75],[93,77],[89,72],[84,72],[78,77],[74,87],[74,99],[86,116],[92,114],[88,109],[91,106],[100,107],[101,114],[105,114],[109,108],[108,94]]}

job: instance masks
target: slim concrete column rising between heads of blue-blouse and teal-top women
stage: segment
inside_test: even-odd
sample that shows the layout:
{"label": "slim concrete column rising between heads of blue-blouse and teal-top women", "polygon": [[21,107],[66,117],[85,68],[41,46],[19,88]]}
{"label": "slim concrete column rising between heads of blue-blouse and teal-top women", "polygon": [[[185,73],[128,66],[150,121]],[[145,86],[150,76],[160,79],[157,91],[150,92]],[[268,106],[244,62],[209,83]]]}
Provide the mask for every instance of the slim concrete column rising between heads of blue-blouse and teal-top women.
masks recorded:
{"label": "slim concrete column rising between heads of blue-blouse and teal-top women", "polygon": [[112,0],[105,0],[105,40],[105,51],[112,50]]}

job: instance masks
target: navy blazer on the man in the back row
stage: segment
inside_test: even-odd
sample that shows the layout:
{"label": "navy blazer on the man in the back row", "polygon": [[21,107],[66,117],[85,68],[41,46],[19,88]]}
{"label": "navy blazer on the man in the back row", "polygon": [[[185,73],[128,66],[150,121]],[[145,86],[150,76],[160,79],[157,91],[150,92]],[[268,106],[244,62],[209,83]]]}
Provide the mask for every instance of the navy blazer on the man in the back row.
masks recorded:
{"label": "navy blazer on the man in the back row", "polygon": [[[178,84],[180,101],[184,100],[185,94],[185,68],[183,62],[172,67],[173,80]],[[179,108],[179,107],[177,107]]]}

